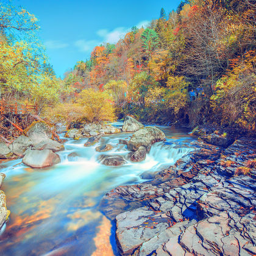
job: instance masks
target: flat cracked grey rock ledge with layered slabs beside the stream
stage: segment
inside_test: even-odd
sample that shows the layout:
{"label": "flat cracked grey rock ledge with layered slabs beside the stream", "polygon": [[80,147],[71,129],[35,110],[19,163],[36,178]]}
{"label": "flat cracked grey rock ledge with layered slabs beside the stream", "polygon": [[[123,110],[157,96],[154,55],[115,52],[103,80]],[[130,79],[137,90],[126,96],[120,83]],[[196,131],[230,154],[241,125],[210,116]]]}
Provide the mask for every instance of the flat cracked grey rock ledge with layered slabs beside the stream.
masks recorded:
{"label": "flat cracked grey rock ledge with layered slabs beside the stream", "polygon": [[255,145],[196,141],[149,182],[107,193],[101,210],[116,220],[121,255],[255,255]]}

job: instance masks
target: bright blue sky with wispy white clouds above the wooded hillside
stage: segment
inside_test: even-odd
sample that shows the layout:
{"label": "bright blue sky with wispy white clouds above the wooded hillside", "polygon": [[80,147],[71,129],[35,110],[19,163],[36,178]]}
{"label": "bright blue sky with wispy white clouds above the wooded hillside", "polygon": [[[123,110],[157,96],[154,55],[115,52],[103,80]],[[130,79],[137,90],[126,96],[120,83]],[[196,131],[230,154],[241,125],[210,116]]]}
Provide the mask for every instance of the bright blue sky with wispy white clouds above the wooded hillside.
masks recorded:
{"label": "bright blue sky with wispy white clouds above the wooded hillside", "polygon": [[180,0],[163,1],[87,1],[87,0],[13,0],[39,20],[38,35],[46,46],[49,62],[57,76],[86,60],[94,46],[116,43],[132,26],[145,26],[168,14]]}

